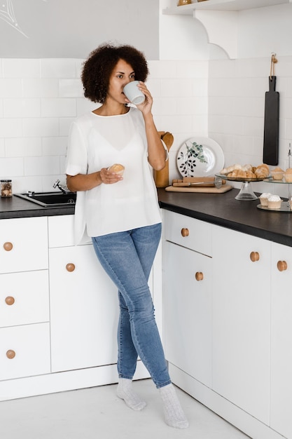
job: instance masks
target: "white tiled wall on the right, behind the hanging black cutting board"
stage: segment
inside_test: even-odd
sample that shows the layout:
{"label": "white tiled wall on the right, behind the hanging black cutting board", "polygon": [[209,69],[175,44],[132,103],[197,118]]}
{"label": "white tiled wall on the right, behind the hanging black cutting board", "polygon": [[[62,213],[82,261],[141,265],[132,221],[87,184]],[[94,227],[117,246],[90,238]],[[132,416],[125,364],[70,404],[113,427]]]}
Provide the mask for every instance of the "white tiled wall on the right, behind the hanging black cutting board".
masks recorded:
{"label": "white tiled wall on the right, behind the hanging black cutting board", "polygon": [[[292,144],[292,57],[279,57],[274,74],[280,97],[279,166],[286,169]],[[263,163],[269,75],[270,57],[209,62],[209,137],[223,148],[227,166]],[[253,183],[253,190],[287,196],[287,187],[279,184]]]}

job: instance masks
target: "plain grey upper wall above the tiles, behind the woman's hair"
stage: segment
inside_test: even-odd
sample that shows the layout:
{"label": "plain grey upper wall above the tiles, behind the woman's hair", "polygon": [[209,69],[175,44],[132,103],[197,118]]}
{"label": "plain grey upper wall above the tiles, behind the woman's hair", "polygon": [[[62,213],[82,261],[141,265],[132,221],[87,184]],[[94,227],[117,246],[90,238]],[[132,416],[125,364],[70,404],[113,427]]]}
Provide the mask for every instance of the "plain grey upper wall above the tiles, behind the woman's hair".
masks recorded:
{"label": "plain grey upper wall above the tiles, behind the woman's hair", "polygon": [[111,40],[158,60],[158,22],[158,0],[6,0],[0,58],[85,58]]}

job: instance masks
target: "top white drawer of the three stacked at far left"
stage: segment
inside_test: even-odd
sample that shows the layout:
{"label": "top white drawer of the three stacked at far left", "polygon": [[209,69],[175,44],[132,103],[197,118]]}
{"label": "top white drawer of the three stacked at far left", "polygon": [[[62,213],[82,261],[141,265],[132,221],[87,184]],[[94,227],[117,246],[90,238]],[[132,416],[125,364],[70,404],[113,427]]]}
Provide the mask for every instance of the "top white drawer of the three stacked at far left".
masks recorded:
{"label": "top white drawer of the three stacked at far left", "polygon": [[48,269],[47,217],[1,219],[0,273]]}

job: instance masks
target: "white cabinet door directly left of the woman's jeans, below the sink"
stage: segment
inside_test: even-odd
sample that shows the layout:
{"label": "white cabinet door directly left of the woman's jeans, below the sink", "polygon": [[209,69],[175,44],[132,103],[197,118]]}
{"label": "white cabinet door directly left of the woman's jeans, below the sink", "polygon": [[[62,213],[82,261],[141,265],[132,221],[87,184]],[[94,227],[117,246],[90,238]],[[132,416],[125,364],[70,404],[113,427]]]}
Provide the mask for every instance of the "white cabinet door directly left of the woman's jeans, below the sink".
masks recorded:
{"label": "white cabinet door directly left of the woman's jeans, below the sink", "polygon": [[117,288],[93,246],[51,248],[52,371],[116,363],[117,327]]}

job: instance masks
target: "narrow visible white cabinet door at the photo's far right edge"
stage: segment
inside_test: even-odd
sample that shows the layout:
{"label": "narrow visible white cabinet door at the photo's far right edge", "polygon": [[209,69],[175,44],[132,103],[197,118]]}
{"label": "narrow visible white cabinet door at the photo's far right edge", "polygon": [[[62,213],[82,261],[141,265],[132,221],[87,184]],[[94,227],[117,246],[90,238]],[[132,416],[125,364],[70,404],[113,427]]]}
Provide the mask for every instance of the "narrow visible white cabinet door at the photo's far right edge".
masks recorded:
{"label": "narrow visible white cabinet door at the photo's far right edge", "polygon": [[[278,268],[279,265],[279,268]],[[272,243],[271,427],[292,438],[292,248]]]}

